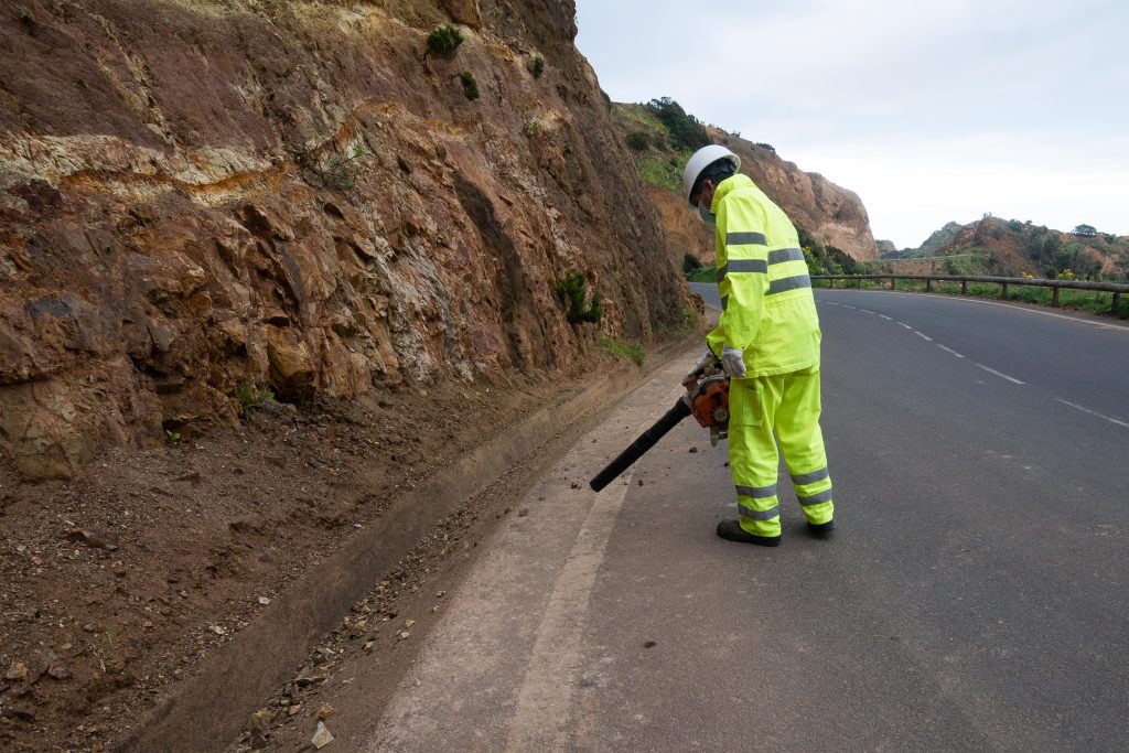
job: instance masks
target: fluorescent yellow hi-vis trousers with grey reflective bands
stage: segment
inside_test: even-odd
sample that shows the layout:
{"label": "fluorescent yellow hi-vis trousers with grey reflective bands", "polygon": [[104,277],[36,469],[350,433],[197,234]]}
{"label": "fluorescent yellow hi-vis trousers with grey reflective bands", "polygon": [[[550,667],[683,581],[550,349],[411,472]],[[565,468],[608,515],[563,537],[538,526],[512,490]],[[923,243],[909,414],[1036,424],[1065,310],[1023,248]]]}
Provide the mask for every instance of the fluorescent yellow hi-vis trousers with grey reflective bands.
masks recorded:
{"label": "fluorescent yellow hi-vis trousers with grey reflective bands", "polygon": [[729,470],[737,487],[737,519],[755,536],[780,535],[780,462],[773,430],[804,515],[811,523],[831,520],[834,504],[820,431],[817,366],[729,383]]}

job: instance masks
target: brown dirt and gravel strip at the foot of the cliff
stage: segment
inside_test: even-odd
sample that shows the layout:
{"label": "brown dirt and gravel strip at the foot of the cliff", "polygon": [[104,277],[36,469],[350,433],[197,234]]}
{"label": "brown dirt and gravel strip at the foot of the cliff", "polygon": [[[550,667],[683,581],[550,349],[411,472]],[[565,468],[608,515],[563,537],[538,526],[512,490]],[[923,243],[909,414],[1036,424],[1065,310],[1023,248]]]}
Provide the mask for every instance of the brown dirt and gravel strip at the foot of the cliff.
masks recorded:
{"label": "brown dirt and gravel strip at the foot of the cliff", "polygon": [[[112,748],[397,499],[610,369],[636,371],[595,358],[553,380],[269,403],[236,431],[110,450],[69,482],[0,471],[0,746]],[[476,519],[456,515],[420,561]],[[411,592],[409,570],[377,593]]]}

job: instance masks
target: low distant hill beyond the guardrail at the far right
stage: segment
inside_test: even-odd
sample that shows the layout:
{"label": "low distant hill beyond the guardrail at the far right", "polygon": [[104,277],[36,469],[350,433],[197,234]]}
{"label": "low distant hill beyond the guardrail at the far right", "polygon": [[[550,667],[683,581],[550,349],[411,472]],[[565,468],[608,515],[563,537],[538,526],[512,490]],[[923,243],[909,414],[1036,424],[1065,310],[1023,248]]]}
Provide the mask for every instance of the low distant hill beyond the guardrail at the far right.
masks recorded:
{"label": "low distant hill beyond the guardrail at the far right", "polygon": [[883,262],[947,274],[1122,280],[1129,277],[1129,237],[1085,225],[1064,233],[988,216],[968,225],[949,222],[919,248],[883,253]]}

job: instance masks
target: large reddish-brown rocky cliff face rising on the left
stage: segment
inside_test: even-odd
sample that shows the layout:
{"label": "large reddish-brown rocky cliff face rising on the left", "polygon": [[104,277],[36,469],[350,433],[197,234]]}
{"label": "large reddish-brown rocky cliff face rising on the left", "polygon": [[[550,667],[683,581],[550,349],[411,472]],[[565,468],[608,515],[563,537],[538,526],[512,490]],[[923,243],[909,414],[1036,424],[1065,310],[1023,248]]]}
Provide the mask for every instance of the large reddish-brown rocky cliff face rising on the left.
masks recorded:
{"label": "large reddish-brown rocky cliff face rising on the left", "polygon": [[[574,269],[614,333],[680,317],[571,0],[25,5],[0,21],[0,450],[25,474],[233,421],[242,385],[568,370]],[[456,56],[426,54],[450,20]]]}

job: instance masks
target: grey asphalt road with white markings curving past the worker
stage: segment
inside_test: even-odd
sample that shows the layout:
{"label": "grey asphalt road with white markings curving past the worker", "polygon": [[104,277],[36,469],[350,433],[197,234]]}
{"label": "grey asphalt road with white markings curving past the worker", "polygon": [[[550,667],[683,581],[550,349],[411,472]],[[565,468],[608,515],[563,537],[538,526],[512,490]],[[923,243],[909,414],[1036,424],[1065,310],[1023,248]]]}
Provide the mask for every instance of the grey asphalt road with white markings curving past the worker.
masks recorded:
{"label": "grey asphalt road with white markings curving past the worker", "polygon": [[688,423],[587,491],[688,353],[518,502],[367,750],[1127,750],[1129,331],[817,299],[838,539],[790,496],[779,549],[714,536]]}

